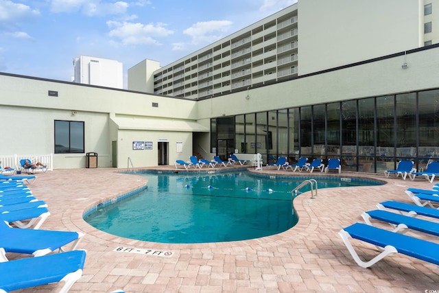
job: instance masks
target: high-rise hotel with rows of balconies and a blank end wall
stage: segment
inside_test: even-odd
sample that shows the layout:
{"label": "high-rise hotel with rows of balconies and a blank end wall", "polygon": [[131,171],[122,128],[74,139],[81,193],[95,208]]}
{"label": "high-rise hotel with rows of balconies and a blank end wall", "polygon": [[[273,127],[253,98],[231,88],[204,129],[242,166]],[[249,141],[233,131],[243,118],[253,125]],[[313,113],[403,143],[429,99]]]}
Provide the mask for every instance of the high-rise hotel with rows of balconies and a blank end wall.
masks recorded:
{"label": "high-rise hotel with rows of balconies and a blank end wall", "polygon": [[128,89],[203,99],[438,43],[431,2],[298,1],[165,67],[140,62]]}

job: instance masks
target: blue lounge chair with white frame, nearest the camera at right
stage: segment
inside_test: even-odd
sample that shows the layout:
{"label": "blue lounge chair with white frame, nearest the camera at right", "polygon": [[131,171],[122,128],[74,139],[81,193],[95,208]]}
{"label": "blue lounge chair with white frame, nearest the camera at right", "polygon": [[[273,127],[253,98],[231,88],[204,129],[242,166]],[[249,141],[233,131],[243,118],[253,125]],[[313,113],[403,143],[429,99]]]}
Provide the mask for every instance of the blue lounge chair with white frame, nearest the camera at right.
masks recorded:
{"label": "blue lounge chair with white frame, nearest the camera at right", "polygon": [[[439,265],[439,244],[434,242],[428,242],[362,223],[355,223],[340,230],[339,235],[342,237],[344,245],[348,248],[355,262],[362,268],[368,268],[384,257],[394,253],[402,253]],[[383,250],[370,261],[362,261],[349,241],[349,237],[379,246]]]}

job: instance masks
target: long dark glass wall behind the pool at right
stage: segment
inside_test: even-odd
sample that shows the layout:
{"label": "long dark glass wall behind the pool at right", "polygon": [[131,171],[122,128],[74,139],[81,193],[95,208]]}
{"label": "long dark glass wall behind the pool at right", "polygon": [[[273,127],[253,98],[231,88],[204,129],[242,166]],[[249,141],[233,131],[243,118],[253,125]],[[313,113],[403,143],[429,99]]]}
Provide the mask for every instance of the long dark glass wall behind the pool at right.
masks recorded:
{"label": "long dark glass wall behind the pool at right", "polygon": [[306,156],[339,158],[346,171],[381,173],[401,160],[422,170],[439,161],[439,89],[220,117],[211,135],[213,148],[231,140],[264,164]]}

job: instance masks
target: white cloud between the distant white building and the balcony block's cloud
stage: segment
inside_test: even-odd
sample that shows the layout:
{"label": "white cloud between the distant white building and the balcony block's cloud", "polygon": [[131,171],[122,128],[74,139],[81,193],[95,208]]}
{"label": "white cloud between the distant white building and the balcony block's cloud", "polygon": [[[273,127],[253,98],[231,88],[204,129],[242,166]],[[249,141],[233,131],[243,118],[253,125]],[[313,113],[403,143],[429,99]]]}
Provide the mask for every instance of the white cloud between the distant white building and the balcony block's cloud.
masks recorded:
{"label": "white cloud between the distant white building and the balcony block's cloud", "polygon": [[161,45],[155,38],[161,38],[174,34],[173,31],[167,30],[165,23],[129,23],[107,21],[108,27],[112,30],[109,36],[119,38],[123,45]]}

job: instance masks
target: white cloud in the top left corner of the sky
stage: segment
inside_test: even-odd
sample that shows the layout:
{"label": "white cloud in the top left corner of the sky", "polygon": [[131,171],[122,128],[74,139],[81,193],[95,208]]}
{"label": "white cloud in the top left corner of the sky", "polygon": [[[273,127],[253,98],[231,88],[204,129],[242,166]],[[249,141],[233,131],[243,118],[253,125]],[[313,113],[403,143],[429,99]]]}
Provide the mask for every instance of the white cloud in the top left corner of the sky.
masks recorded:
{"label": "white cloud in the top left corner of the sky", "polygon": [[22,3],[0,0],[0,27],[16,27],[18,23],[32,21],[39,15],[38,10]]}

